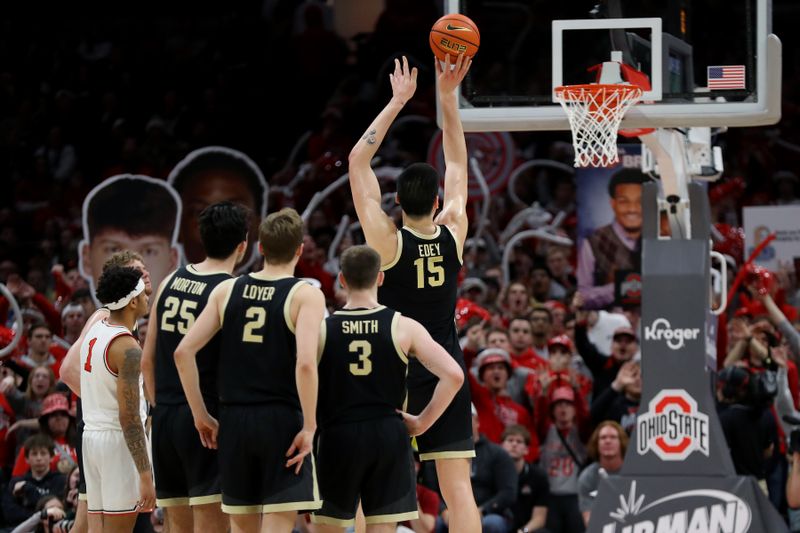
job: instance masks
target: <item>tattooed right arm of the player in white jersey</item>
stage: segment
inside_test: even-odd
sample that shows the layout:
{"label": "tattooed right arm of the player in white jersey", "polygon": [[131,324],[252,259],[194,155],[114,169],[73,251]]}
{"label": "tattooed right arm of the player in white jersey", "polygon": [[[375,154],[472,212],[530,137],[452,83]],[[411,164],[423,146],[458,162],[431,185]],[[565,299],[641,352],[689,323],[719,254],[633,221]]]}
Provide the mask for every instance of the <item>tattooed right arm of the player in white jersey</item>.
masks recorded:
{"label": "tattooed right arm of the player in white jersey", "polygon": [[150,471],[150,458],[147,455],[147,440],[139,415],[139,374],[142,368],[142,350],[125,350],[125,359],[119,372],[117,387],[122,388],[119,406],[120,425],[125,436],[125,444],[131,452],[136,470],[139,473]]}

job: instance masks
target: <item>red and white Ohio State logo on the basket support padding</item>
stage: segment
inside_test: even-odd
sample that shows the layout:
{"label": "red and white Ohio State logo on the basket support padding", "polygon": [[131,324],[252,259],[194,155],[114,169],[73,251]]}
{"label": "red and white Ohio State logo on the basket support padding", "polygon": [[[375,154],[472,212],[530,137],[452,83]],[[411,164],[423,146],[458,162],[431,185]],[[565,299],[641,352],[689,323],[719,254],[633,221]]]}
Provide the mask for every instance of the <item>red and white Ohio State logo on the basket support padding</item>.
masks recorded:
{"label": "red and white Ohio State logo on the basket support padding", "polygon": [[636,421],[636,451],[663,461],[683,461],[694,451],[708,456],[708,415],[685,390],[662,390]]}

